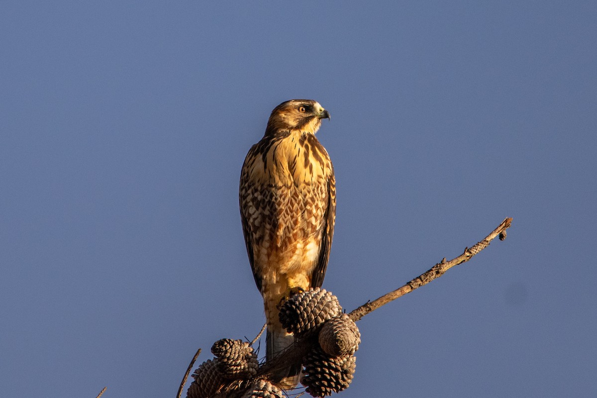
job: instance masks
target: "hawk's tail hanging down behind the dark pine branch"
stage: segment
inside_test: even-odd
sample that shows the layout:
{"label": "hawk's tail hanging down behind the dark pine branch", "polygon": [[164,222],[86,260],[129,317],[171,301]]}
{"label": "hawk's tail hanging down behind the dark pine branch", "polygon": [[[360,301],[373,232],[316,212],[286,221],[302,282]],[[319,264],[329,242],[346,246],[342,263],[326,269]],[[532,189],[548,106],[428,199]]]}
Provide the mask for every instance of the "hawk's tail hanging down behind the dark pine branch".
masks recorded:
{"label": "hawk's tail hanging down behind the dark pine branch", "polygon": [[[266,360],[272,360],[273,357],[294,343],[294,335],[287,333],[284,329],[272,326],[273,325],[267,325]],[[293,363],[293,365],[276,369],[272,374],[272,379],[279,387],[284,390],[290,390],[298,385],[301,376],[301,368],[301,363]]]}

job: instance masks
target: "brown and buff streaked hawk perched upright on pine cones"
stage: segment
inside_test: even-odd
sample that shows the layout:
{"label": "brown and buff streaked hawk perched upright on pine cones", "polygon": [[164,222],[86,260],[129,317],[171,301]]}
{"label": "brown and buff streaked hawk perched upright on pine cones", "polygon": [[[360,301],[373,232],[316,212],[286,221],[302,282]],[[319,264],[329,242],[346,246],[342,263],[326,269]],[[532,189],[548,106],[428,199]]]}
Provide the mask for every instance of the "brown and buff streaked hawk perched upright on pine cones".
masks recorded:
{"label": "brown and buff streaked hawk perched upright on pine cones", "polygon": [[[330,257],[336,180],[330,156],[315,138],[321,119],[330,119],[330,113],[316,101],[279,104],[242,166],[242,230],[263,296],[267,360],[294,341],[280,324],[280,304],[297,291],[321,286]],[[282,388],[294,388],[300,371],[298,363],[272,378]]]}

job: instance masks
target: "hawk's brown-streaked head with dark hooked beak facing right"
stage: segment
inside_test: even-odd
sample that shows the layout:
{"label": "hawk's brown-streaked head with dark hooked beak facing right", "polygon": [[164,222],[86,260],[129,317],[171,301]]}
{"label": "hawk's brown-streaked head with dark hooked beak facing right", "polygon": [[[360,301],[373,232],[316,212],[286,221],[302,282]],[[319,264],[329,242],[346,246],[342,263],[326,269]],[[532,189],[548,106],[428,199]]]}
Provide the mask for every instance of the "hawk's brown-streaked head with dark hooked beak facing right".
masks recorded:
{"label": "hawk's brown-streaked head with dark hooked beak facing right", "polygon": [[321,119],[330,119],[330,113],[317,101],[286,101],[272,110],[267,122],[266,135],[293,130],[315,134],[321,125]]}

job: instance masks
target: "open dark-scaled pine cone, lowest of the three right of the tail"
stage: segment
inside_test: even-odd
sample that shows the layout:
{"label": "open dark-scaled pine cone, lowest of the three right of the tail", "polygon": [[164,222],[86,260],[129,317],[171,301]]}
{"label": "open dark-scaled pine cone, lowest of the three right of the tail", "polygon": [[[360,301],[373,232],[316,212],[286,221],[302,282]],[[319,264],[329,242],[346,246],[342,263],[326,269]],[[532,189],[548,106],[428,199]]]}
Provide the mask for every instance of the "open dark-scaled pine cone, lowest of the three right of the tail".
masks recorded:
{"label": "open dark-scaled pine cone, lowest of the three right of the tail", "polygon": [[324,351],[316,349],[304,359],[304,376],[301,383],[313,397],[338,393],[350,385],[355,367],[356,357],[353,355],[330,358]]}

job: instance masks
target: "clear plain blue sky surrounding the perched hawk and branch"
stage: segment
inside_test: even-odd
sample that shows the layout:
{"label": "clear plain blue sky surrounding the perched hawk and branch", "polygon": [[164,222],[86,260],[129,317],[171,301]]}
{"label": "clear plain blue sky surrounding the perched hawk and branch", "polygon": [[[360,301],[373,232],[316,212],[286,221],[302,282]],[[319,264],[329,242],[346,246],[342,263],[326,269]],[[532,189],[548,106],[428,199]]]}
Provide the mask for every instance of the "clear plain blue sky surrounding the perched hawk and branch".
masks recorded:
{"label": "clear plain blue sky surrounding the perched hawk and branch", "polygon": [[[343,397],[595,397],[597,3],[0,1],[0,391],[174,397],[264,322],[238,212],[270,111],[336,168]],[[263,351],[262,351],[263,353]]]}

